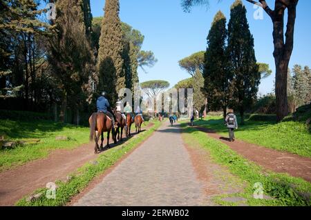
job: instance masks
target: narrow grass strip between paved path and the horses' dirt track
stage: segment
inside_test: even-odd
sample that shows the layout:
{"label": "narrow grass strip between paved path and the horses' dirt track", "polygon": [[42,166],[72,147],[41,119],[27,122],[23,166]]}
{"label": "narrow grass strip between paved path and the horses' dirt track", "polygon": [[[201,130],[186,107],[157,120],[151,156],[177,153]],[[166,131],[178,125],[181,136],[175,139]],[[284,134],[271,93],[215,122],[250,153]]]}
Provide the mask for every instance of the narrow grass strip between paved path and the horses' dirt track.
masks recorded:
{"label": "narrow grass strip between paved path and the horses' dirt track", "polygon": [[16,206],[64,206],[70,198],[82,191],[94,177],[102,174],[105,170],[113,166],[119,159],[121,159],[127,152],[138,147],[139,144],[153,134],[158,129],[161,123],[153,122],[153,127],[138,134],[135,138],[129,139],[126,143],[111,150],[100,154],[96,163],[87,163],[77,172],[70,175],[72,179],[68,182],[57,181],[56,199],[47,199],[45,194],[47,189],[41,188],[36,190],[34,194],[41,192],[42,196],[36,201],[28,202],[26,197],[16,203]]}

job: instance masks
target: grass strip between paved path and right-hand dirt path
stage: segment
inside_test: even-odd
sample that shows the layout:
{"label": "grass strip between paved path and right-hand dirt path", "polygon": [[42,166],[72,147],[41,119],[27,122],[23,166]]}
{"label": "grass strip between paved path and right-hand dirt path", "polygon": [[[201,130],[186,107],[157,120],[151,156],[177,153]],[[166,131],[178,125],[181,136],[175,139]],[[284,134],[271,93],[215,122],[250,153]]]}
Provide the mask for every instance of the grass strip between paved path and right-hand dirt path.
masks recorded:
{"label": "grass strip between paved path and right-hand dirt path", "polygon": [[[311,206],[311,183],[308,181],[286,174],[266,172],[222,142],[207,137],[204,132],[194,128],[184,128],[182,136],[187,144],[200,146],[207,150],[214,162],[227,167],[232,174],[245,182],[244,192],[215,197],[216,203],[235,206],[235,203],[221,199],[223,197],[243,197],[249,206]],[[262,183],[264,194],[273,199],[254,199],[254,183]]]}

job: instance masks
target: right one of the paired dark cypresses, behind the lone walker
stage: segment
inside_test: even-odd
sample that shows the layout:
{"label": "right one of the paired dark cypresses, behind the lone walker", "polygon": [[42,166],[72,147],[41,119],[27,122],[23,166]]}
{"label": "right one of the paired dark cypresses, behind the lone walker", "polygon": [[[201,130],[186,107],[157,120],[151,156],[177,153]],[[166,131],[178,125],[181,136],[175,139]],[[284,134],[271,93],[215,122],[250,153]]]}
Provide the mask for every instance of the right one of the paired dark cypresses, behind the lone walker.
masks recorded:
{"label": "right one of the paired dark cypresses, behind the lone walker", "polygon": [[254,38],[249,31],[246,8],[241,0],[236,0],[231,7],[227,54],[229,71],[234,75],[233,105],[240,113],[243,124],[246,108],[256,99],[261,73],[256,64]]}

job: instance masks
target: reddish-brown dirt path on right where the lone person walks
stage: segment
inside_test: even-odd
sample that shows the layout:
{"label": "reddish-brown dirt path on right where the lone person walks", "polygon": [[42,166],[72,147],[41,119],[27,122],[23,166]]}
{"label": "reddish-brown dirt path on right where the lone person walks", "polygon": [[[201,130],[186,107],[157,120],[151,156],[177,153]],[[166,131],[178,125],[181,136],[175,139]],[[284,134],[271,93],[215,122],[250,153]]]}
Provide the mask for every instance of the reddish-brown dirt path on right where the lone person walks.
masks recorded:
{"label": "reddish-brown dirt path on right where the lone person walks", "polygon": [[293,177],[301,177],[311,182],[311,159],[308,157],[301,157],[289,152],[281,152],[240,140],[229,142],[227,137],[223,137],[207,128],[195,128],[198,128],[202,132],[207,132],[209,137],[220,140],[232,148],[232,150],[238,152],[238,154],[243,155],[243,157],[250,161],[254,161],[267,170],[287,172]]}

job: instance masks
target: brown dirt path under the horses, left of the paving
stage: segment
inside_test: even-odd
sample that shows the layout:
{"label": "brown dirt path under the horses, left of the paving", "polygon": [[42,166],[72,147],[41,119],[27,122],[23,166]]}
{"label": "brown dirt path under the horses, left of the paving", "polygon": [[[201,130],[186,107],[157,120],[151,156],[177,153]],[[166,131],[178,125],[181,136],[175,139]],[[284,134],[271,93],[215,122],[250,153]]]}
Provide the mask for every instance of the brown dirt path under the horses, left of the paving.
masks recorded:
{"label": "brown dirt path under the horses, left of the paving", "polygon": [[[151,126],[153,125],[149,124],[143,129]],[[106,144],[106,137],[104,143]],[[55,150],[46,159],[30,161],[23,166],[0,172],[0,206],[14,206],[25,195],[37,188],[46,187],[46,183],[66,180],[70,172],[93,161],[97,156],[94,154],[94,143],[88,143],[73,150]]]}

